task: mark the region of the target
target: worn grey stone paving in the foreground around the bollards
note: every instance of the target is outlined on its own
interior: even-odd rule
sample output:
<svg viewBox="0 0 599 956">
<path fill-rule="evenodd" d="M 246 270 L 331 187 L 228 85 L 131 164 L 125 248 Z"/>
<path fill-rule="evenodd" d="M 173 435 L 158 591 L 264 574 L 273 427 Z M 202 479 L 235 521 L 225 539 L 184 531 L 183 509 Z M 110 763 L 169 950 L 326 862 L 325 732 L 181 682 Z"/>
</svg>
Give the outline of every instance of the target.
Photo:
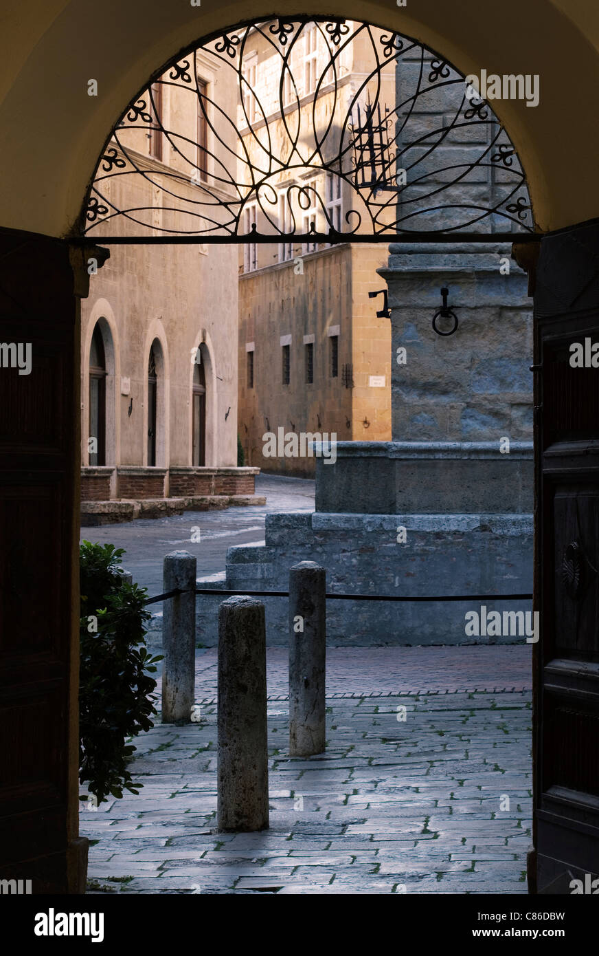
<svg viewBox="0 0 599 956">
<path fill-rule="evenodd" d="M 200 655 L 200 723 L 140 734 L 139 795 L 82 805 L 89 891 L 524 894 L 529 648 L 328 653 L 327 750 L 308 759 L 288 755 L 284 656 L 269 653 L 270 829 L 257 834 L 215 831 L 214 662 Z"/>
</svg>

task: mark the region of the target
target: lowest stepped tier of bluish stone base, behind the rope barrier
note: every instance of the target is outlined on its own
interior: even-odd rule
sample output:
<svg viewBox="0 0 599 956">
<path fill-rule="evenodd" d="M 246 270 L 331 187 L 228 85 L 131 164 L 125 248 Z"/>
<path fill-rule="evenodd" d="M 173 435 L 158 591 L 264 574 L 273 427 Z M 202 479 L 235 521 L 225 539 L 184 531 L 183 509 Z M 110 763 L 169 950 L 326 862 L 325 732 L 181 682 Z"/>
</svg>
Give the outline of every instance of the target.
<svg viewBox="0 0 599 956">
<path fill-rule="evenodd" d="M 396 529 L 407 532 L 405 544 Z M 327 570 L 327 592 L 404 597 L 529 594 L 532 591 L 531 514 L 350 514 L 267 515 L 265 544 L 227 552 L 226 573 L 199 580 L 199 587 L 287 591 L 289 568 L 313 560 Z M 218 607 L 224 598 L 197 597 L 197 640 L 213 646 Z M 289 641 L 288 601 L 263 598 L 267 643 Z M 327 600 L 327 641 L 331 645 L 426 645 L 520 643 L 524 639 L 473 639 L 465 614 L 529 611 L 529 600 L 368 601 Z"/>
</svg>

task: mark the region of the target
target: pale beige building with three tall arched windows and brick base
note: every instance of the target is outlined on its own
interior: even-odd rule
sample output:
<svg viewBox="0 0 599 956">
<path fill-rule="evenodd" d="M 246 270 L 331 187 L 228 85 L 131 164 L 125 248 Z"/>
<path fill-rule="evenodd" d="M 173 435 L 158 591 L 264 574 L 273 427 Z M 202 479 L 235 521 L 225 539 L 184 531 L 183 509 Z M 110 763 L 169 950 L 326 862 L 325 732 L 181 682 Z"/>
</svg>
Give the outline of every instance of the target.
<svg viewBox="0 0 599 956">
<path fill-rule="evenodd" d="M 215 57 L 197 54 L 194 63 L 197 90 L 175 85 L 172 71 L 157 77 L 106 146 L 99 202 L 127 216 L 115 228 L 109 212 L 98 240 L 179 231 L 198 193 L 230 195 L 218 178 L 227 142 L 211 128 L 212 99 L 232 112 L 237 89 L 223 81 Z M 120 169 L 122 176 L 109 175 Z M 257 500 L 257 469 L 237 467 L 237 251 L 115 246 L 99 271 L 89 261 L 81 308 L 83 522 Z"/>
</svg>

